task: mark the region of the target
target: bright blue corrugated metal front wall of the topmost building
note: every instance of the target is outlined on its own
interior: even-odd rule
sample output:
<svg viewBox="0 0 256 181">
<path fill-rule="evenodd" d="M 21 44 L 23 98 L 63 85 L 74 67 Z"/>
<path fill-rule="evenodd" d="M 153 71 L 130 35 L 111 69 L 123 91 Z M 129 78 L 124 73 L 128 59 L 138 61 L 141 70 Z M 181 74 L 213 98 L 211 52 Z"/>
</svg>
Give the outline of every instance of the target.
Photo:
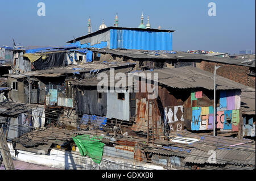
<svg viewBox="0 0 256 181">
<path fill-rule="evenodd" d="M 172 50 L 172 33 L 110 30 L 110 48 Z"/>
</svg>

